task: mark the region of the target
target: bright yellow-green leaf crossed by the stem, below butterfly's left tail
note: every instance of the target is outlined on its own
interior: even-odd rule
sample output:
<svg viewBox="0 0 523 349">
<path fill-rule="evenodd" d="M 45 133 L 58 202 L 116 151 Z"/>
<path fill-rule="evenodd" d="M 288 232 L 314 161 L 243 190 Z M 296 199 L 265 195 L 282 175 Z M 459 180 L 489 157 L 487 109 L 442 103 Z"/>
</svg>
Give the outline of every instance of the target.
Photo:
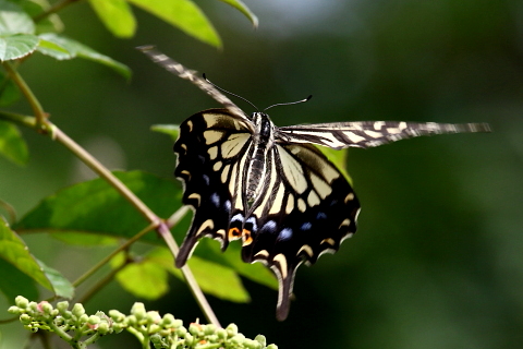
<svg viewBox="0 0 523 349">
<path fill-rule="evenodd" d="M 172 254 L 167 249 L 156 249 L 147 256 L 148 261 L 162 265 L 180 279 L 182 272 L 174 267 Z M 238 274 L 230 267 L 193 256 L 187 262 L 202 290 L 231 302 L 245 303 L 251 300 Z"/>
</svg>

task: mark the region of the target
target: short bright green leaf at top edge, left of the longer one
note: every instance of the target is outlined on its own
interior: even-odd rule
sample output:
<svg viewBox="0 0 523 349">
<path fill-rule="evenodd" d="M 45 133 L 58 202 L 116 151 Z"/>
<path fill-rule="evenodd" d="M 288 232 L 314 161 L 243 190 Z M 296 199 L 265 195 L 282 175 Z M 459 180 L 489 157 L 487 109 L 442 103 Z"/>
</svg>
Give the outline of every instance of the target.
<svg viewBox="0 0 523 349">
<path fill-rule="evenodd" d="M 129 38 L 136 32 L 136 20 L 125 0 L 89 0 L 89 3 L 114 36 Z"/>
</svg>

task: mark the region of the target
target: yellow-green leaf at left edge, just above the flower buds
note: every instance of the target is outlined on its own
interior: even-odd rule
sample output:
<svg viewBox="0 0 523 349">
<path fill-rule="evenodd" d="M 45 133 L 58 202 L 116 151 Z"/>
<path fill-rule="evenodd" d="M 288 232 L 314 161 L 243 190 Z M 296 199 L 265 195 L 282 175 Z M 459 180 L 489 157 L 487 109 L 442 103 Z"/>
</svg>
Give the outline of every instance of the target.
<svg viewBox="0 0 523 349">
<path fill-rule="evenodd" d="M 47 279 L 36 258 L 29 253 L 24 241 L 11 230 L 3 217 L 0 217 L 0 258 L 11 263 L 38 284 L 52 290 L 51 282 Z"/>
</svg>

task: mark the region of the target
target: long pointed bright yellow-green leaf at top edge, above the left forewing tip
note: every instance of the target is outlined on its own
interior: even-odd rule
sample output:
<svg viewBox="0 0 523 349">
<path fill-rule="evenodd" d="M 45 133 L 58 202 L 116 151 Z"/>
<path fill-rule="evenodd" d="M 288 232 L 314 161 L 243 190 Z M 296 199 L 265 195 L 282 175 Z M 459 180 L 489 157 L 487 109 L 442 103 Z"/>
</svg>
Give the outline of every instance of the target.
<svg viewBox="0 0 523 349">
<path fill-rule="evenodd" d="M 191 0 L 127 0 L 186 34 L 215 47 L 221 39 L 202 10 Z"/>
</svg>

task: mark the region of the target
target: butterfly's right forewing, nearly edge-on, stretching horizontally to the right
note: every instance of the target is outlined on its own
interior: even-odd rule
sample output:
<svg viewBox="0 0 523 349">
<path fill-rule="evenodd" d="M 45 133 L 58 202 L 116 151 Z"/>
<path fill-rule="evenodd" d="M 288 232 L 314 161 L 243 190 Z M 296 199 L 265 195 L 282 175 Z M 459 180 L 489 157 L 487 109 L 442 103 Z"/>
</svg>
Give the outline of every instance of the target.
<svg viewBox="0 0 523 349">
<path fill-rule="evenodd" d="M 314 143 L 335 149 L 367 148 L 422 135 L 490 132 L 488 123 L 435 123 L 362 121 L 315 123 L 279 128 L 282 143 Z"/>
</svg>

